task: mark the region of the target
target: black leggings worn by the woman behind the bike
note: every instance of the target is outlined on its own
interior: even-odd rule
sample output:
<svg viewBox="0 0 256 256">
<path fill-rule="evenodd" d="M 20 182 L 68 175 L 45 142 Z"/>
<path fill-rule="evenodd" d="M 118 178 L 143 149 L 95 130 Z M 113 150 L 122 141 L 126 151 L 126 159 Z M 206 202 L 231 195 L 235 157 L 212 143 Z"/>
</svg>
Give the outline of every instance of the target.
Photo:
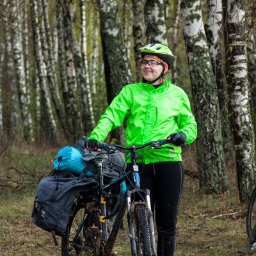
<svg viewBox="0 0 256 256">
<path fill-rule="evenodd" d="M 182 163 L 145 164 L 140 179 L 141 188 L 150 190 L 151 208 L 156 212 L 157 256 L 173 256 L 176 244 L 177 214 L 184 181 Z"/>
</svg>

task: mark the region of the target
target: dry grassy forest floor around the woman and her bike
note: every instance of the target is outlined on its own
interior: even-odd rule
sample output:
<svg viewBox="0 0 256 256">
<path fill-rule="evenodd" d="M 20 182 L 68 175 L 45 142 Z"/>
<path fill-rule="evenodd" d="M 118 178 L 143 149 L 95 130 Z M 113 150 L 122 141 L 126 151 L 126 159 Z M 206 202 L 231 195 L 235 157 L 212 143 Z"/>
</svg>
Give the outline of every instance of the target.
<svg viewBox="0 0 256 256">
<path fill-rule="evenodd" d="M 27 151 L 13 154 L 10 150 L 0 159 L 0 256 L 60 256 L 60 246 L 54 246 L 51 234 L 31 221 L 36 184 L 51 170 L 57 150 Z M 195 148 L 185 152 L 185 169 L 196 170 L 194 152 Z M 203 195 L 198 179 L 185 175 L 175 256 L 238 256 L 237 251 L 248 246 L 247 205 L 239 202 L 234 168 L 229 168 L 228 175 L 230 189 L 221 196 Z M 126 221 L 115 251 L 131 255 Z"/>
</svg>

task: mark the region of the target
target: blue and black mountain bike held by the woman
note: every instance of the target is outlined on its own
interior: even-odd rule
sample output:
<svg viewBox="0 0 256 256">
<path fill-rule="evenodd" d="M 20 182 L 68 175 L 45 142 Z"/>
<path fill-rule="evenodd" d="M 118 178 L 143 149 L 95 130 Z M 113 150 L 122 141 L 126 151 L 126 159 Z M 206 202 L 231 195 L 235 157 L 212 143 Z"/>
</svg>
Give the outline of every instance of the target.
<svg viewBox="0 0 256 256">
<path fill-rule="evenodd" d="M 163 147 L 165 144 L 169 144 L 169 146 Z M 124 175 L 120 178 L 104 185 L 102 161 L 108 157 L 108 154 L 83 156 L 84 160 L 95 161 L 97 164 L 99 185 L 89 192 L 80 193 L 74 202 L 74 215 L 69 220 L 67 235 L 61 238 L 61 255 L 115 255 L 113 246 L 118 230 L 122 225 L 126 208 L 132 255 L 156 255 L 150 191 L 140 188 L 137 159 L 141 151 L 149 148 L 173 150 L 170 146 L 170 140 L 151 141 L 141 146 L 132 145 L 131 147 L 103 143 L 99 148 L 105 148 L 108 154 L 112 154 L 116 150 L 125 151 L 129 154 L 131 159 L 129 166 L 132 168 L 125 170 Z M 118 188 L 124 182 L 127 184 L 127 190 L 123 198 L 115 195 L 118 202 L 117 207 L 111 214 L 107 214 L 108 201 L 113 198 L 111 190 Z M 109 219 L 114 216 L 115 220 L 111 225 Z"/>
</svg>

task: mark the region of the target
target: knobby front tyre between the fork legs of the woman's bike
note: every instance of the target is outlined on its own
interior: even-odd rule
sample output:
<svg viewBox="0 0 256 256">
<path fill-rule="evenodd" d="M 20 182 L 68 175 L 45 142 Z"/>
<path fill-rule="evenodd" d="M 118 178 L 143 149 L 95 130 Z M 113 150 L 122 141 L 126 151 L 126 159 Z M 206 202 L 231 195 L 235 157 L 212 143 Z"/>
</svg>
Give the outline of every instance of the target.
<svg viewBox="0 0 256 256">
<path fill-rule="evenodd" d="M 136 205 L 133 222 L 136 236 L 137 255 L 151 256 L 152 248 L 150 242 L 150 232 L 148 228 L 147 208 L 145 205 Z"/>
</svg>

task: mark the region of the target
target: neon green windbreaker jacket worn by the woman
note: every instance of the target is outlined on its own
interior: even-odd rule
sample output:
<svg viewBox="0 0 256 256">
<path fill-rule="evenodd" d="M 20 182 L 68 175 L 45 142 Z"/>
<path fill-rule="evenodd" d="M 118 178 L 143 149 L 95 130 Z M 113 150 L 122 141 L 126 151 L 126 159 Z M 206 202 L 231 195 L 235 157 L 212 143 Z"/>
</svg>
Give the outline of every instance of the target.
<svg viewBox="0 0 256 256">
<path fill-rule="evenodd" d="M 196 138 L 196 122 L 188 96 L 181 88 L 172 84 L 170 79 L 166 79 L 166 83 L 157 89 L 145 83 L 124 86 L 101 116 L 88 140 L 98 140 L 102 143 L 109 131 L 119 127 L 125 118 L 126 146 L 163 140 L 176 132 L 183 132 L 188 144 Z M 146 164 L 181 161 L 181 148 L 173 148 L 174 150 L 145 150 L 140 154 Z"/>
</svg>

